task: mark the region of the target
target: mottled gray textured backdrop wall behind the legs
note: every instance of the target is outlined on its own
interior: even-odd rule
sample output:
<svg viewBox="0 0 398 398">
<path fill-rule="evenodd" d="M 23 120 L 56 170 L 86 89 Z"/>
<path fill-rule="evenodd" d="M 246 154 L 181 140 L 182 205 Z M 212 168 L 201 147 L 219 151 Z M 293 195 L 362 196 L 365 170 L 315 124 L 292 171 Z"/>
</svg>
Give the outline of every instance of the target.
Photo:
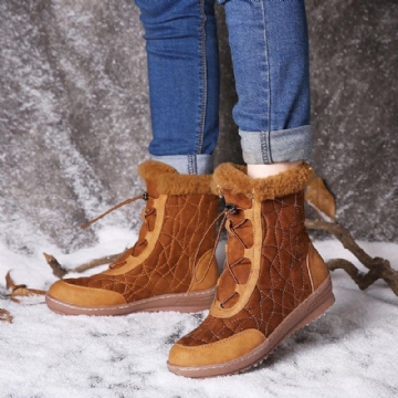
<svg viewBox="0 0 398 398">
<path fill-rule="evenodd" d="M 307 1 L 315 167 L 338 219 L 398 238 L 398 2 Z M 217 163 L 241 161 L 233 73 L 218 9 L 222 102 Z M 0 237 L 30 252 L 93 242 L 78 224 L 142 190 L 150 139 L 144 41 L 127 0 L 0 2 Z M 104 222 L 135 228 L 140 205 Z M 27 238 L 29 235 L 29 238 Z"/>
</svg>

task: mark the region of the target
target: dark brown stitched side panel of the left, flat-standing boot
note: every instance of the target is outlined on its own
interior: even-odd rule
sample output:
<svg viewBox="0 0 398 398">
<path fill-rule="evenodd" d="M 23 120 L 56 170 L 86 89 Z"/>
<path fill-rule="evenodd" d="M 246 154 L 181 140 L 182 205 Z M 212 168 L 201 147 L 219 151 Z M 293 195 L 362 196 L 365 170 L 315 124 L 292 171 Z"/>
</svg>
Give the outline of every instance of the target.
<svg viewBox="0 0 398 398">
<path fill-rule="evenodd" d="M 67 282 L 115 291 L 127 302 L 187 292 L 192 279 L 192 259 L 216 218 L 218 203 L 218 198 L 212 195 L 169 196 L 159 239 L 146 261 L 125 274 L 97 274 Z M 213 244 L 211 230 L 200 244 L 198 259 Z"/>
</svg>

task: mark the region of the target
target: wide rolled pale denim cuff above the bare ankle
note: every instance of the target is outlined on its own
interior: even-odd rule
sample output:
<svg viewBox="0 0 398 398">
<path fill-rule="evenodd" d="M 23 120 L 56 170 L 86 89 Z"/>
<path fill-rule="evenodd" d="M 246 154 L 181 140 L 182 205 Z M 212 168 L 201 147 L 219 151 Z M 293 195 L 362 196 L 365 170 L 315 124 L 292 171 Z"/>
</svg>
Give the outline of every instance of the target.
<svg viewBox="0 0 398 398">
<path fill-rule="evenodd" d="M 279 161 L 312 161 L 312 127 L 300 126 L 275 132 L 239 130 L 243 159 L 249 165 Z"/>
</svg>

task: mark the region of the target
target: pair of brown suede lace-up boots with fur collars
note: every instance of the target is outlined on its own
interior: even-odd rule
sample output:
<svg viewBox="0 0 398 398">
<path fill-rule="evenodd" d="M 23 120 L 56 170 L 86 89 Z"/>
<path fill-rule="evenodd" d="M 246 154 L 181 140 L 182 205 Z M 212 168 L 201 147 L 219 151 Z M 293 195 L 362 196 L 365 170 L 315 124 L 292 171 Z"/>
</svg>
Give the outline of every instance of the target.
<svg viewBox="0 0 398 398">
<path fill-rule="evenodd" d="M 334 303 L 328 270 L 304 227 L 303 190 L 313 177 L 308 165 L 252 179 L 232 164 L 219 166 L 213 176 L 190 176 L 149 160 L 138 174 L 147 192 L 137 243 L 101 274 L 53 284 L 46 303 L 54 312 L 210 308 L 172 346 L 168 368 L 211 377 L 259 364 Z M 218 195 L 227 203 L 219 216 Z M 217 219 L 228 231 L 220 277 Z"/>
</svg>

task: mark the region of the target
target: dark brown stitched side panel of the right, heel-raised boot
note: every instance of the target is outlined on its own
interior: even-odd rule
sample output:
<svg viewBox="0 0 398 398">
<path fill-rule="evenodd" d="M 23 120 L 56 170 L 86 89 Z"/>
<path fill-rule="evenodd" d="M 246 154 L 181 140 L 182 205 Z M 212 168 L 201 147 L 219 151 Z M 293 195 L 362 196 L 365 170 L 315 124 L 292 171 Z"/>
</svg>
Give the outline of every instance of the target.
<svg viewBox="0 0 398 398">
<path fill-rule="evenodd" d="M 268 337 L 311 294 L 305 263 L 310 239 L 304 229 L 303 192 L 264 201 L 261 217 L 265 233 L 260 276 L 249 302 L 229 318 L 209 315 L 180 344 L 213 343 L 248 328 Z"/>
</svg>

